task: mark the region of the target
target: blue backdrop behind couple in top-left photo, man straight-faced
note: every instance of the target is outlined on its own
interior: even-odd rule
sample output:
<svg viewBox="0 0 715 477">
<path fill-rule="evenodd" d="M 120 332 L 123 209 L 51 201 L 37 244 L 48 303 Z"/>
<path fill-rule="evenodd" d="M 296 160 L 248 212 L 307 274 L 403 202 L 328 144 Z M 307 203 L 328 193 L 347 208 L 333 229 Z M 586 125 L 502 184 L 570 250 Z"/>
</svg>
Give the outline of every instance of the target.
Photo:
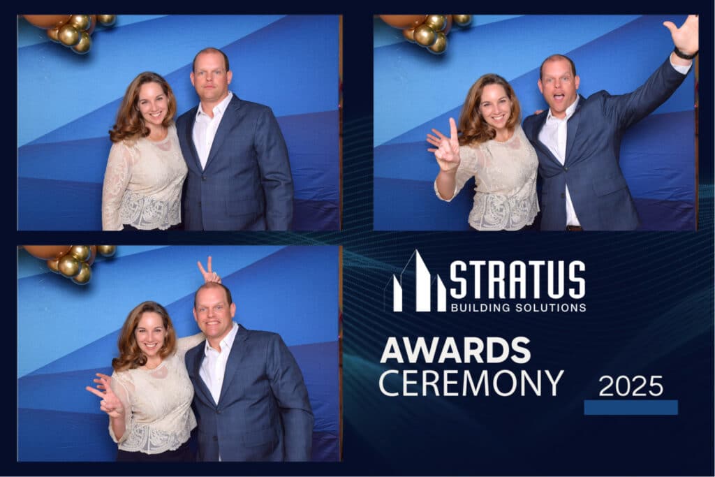
<svg viewBox="0 0 715 477">
<path fill-rule="evenodd" d="M 206 46 L 229 56 L 232 91 L 278 119 L 295 185 L 293 230 L 338 230 L 338 30 L 327 15 L 118 15 L 80 56 L 19 18 L 18 230 L 102 230 L 107 132 L 127 85 L 139 72 L 161 74 L 182 114 L 198 103 L 189 72 Z"/>
</svg>

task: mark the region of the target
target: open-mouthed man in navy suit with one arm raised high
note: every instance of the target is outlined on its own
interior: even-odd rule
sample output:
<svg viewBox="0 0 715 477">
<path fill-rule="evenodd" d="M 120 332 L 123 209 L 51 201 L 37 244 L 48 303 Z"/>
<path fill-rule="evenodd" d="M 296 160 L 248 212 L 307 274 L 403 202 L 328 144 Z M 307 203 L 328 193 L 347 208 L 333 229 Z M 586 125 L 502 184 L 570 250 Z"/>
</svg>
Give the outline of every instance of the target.
<svg viewBox="0 0 715 477">
<path fill-rule="evenodd" d="M 698 16 L 680 28 L 664 22 L 675 45 L 636 91 L 588 98 L 567 56 L 541 64 L 538 89 L 548 110 L 527 117 L 523 129 L 536 149 L 541 187 L 541 230 L 634 230 L 640 220 L 618 163 L 621 137 L 671 97 L 698 53 Z M 619 59 L 618 61 L 626 61 Z"/>
</svg>

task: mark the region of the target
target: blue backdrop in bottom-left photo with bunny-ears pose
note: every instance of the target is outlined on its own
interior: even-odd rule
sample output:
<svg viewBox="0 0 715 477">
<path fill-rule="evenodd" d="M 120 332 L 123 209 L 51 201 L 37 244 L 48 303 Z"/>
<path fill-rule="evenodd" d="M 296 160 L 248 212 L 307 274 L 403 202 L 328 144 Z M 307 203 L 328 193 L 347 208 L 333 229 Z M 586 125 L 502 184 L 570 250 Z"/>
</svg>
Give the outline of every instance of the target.
<svg viewBox="0 0 715 477">
<path fill-rule="evenodd" d="M 119 330 L 144 300 L 167 308 L 179 337 L 199 332 L 192 315 L 202 283 L 196 262 L 205 266 L 208 255 L 232 291 L 235 320 L 280 333 L 290 348 L 315 414 L 313 460 L 337 461 L 338 247 L 127 245 L 114 257 L 98 257 L 84 286 L 19 250 L 19 461 L 114 461 L 107 415 L 84 386 L 94 373 L 111 374 Z"/>
</svg>

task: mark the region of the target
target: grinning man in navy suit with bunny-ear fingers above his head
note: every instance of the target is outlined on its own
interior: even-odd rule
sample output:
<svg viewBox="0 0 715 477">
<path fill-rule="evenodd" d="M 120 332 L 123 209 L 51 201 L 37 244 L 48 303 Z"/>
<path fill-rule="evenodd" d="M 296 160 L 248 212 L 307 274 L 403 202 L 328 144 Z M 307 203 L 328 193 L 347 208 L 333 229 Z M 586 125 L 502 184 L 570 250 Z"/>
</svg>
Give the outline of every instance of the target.
<svg viewBox="0 0 715 477">
<path fill-rule="evenodd" d="M 220 283 L 194 295 L 206 341 L 186 353 L 199 423 L 199 461 L 309 461 L 313 414 L 295 358 L 280 335 L 234 323 Z"/>
</svg>

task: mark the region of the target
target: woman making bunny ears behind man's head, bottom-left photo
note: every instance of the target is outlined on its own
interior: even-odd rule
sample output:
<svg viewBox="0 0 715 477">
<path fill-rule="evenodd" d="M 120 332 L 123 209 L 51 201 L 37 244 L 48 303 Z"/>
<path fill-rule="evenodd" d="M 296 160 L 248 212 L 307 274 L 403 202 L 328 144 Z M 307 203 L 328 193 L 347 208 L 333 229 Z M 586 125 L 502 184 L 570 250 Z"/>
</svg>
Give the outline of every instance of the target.
<svg viewBox="0 0 715 477">
<path fill-rule="evenodd" d="M 204 282 L 221 282 L 199 262 Z M 117 461 L 194 461 L 189 446 L 197 426 L 191 403 L 194 386 L 184 355 L 206 339 L 204 333 L 177 338 L 167 310 L 159 303 L 139 303 L 119 333 L 114 373 L 97 373 L 99 408 L 109 415 L 109 436 L 117 443 Z"/>
</svg>

